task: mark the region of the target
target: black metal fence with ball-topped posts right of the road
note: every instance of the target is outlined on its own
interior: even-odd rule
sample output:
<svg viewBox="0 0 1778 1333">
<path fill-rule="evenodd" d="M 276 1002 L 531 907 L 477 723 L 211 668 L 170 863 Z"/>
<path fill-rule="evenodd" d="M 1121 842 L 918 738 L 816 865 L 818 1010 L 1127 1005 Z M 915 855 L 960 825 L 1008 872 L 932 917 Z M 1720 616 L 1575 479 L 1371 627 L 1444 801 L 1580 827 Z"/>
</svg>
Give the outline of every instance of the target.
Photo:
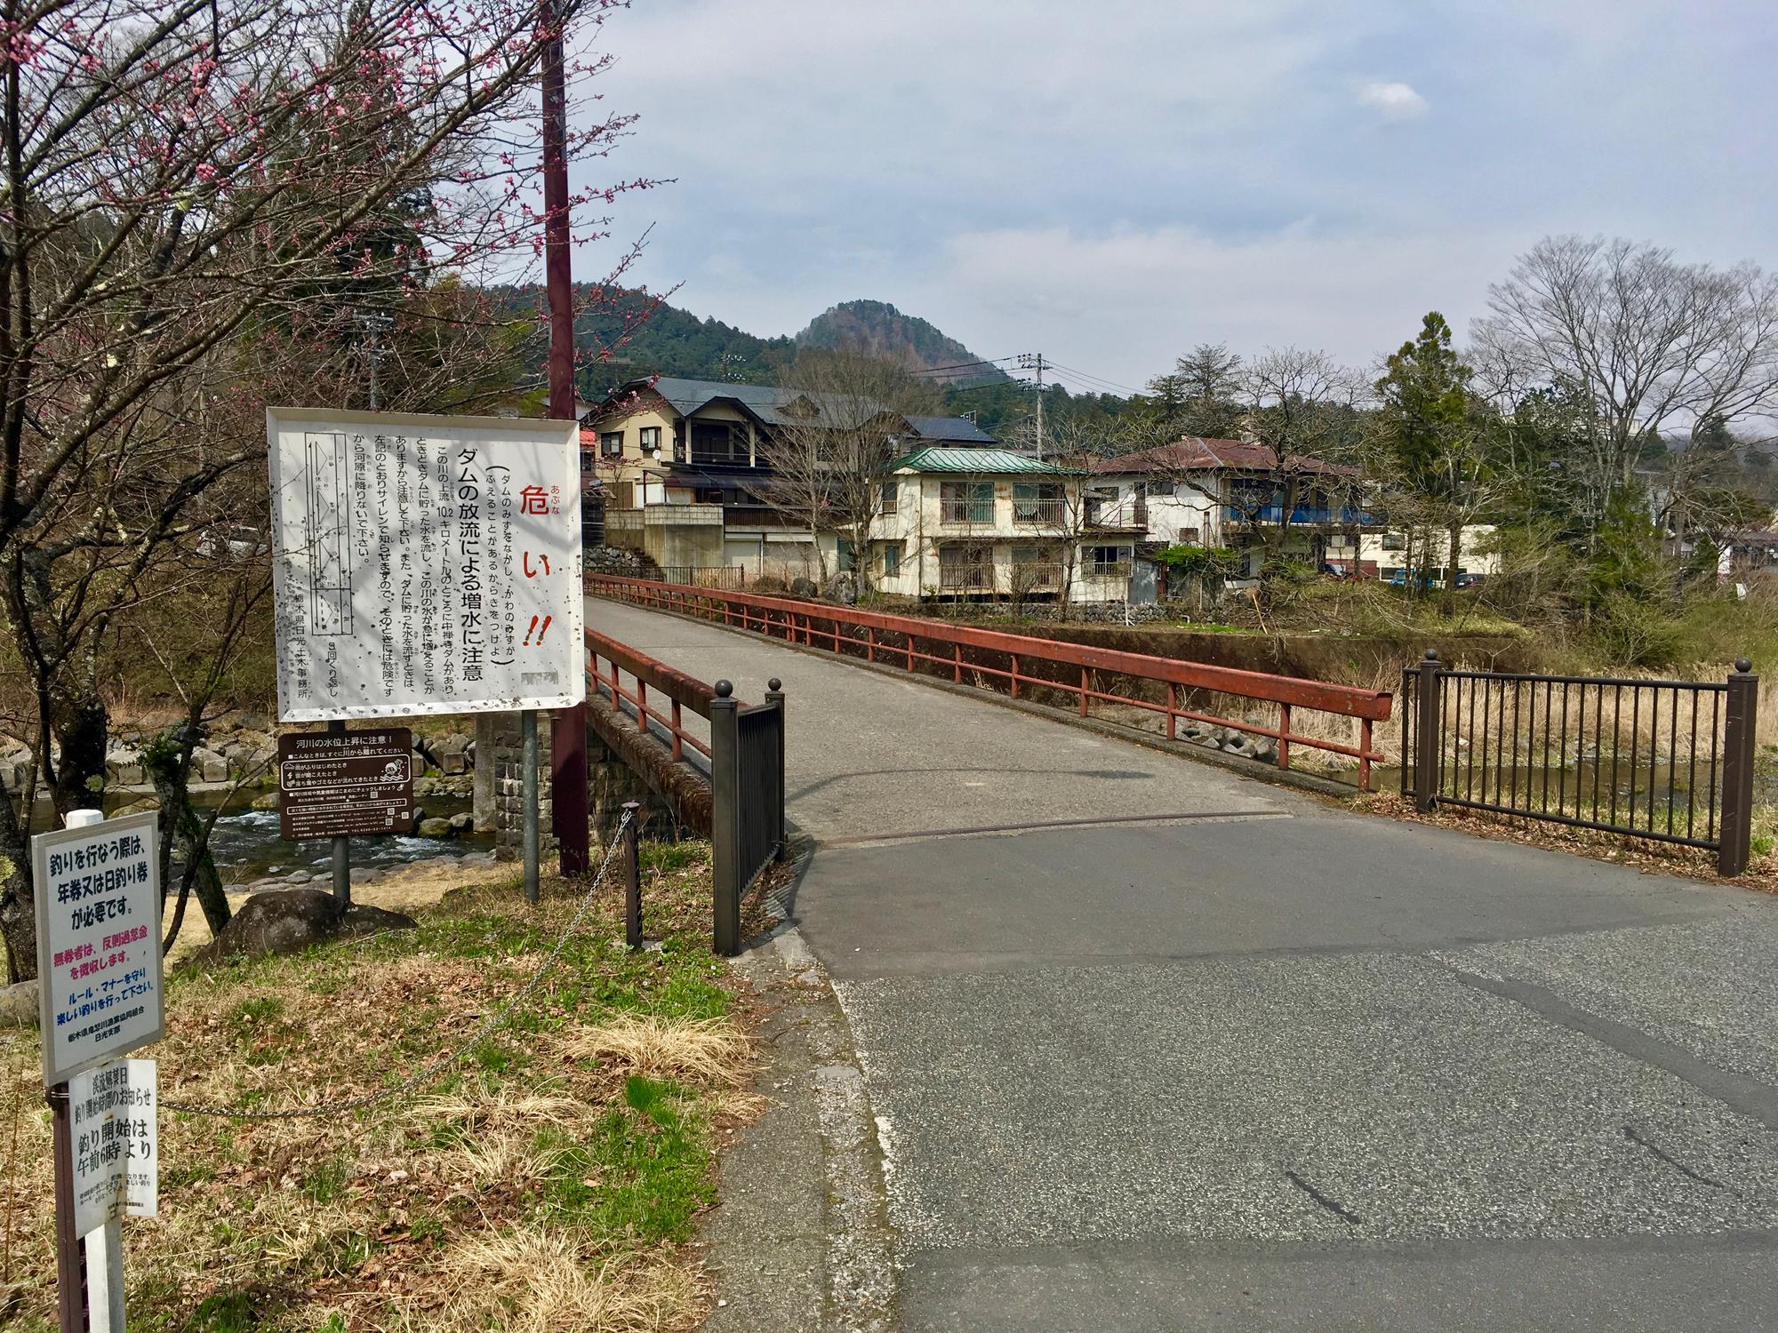
<svg viewBox="0 0 1778 1333">
<path fill-rule="evenodd" d="M 1639 681 L 1446 668 L 1401 674 L 1401 794 L 1709 848 L 1748 866 L 1758 675 Z"/>
</svg>

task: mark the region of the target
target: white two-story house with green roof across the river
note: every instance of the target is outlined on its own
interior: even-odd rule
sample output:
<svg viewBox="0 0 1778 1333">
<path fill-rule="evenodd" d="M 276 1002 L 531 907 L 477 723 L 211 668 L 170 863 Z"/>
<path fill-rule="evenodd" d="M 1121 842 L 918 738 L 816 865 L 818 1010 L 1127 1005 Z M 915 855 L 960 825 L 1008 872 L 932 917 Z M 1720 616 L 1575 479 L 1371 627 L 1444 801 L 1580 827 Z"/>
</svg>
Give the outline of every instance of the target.
<svg viewBox="0 0 1778 1333">
<path fill-rule="evenodd" d="M 1010 450 L 917 448 L 887 467 L 866 581 L 946 601 L 1124 601 L 1141 528 L 1090 480 Z"/>
</svg>

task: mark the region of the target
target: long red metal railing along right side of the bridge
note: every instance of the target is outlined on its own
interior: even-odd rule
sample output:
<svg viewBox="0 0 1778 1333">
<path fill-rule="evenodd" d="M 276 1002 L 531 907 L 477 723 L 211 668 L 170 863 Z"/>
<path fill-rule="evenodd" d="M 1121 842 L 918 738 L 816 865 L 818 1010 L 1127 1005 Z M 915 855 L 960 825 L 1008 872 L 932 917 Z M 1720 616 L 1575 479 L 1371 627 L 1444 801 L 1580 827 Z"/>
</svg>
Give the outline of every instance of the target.
<svg viewBox="0 0 1778 1333">
<path fill-rule="evenodd" d="M 900 665 L 910 672 L 949 674 L 955 682 L 962 682 L 965 675 L 971 681 L 1003 682 L 1012 698 L 1031 698 L 1033 691 L 1038 695 L 1061 691 L 1074 697 L 1081 716 L 1088 714 L 1093 702 L 1159 713 L 1166 718 L 1170 741 L 1179 738 L 1181 720 L 1266 736 L 1278 743 L 1277 762 L 1285 770 L 1291 766 L 1293 746 L 1346 755 L 1358 761 L 1360 791 L 1371 789 L 1371 764 L 1383 759 L 1373 743 L 1373 727 L 1389 718 L 1394 700 L 1387 690 L 1360 690 L 1294 675 L 1177 661 L 974 626 L 949 626 L 855 606 L 827 606 L 612 574 L 589 574 L 587 590 L 637 606 L 750 629 L 788 643 Z M 1273 706 L 1277 723 L 1218 716 L 1205 711 L 1207 704 L 1193 707 L 1198 704 L 1193 695 L 1207 693 Z M 1298 709 L 1355 718 L 1358 743 L 1346 745 L 1303 734 L 1293 725 Z"/>
</svg>

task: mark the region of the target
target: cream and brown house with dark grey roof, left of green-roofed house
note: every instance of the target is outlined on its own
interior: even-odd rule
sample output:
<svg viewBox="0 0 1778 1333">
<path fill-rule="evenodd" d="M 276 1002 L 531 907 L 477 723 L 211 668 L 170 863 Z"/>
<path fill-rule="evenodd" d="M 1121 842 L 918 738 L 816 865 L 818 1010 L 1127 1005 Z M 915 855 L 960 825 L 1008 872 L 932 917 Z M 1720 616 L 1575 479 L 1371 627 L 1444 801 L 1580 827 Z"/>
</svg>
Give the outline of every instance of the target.
<svg viewBox="0 0 1778 1333">
<path fill-rule="evenodd" d="M 813 574 L 809 531 L 773 510 L 772 450 L 789 425 L 853 419 L 853 402 L 765 384 L 676 377 L 617 386 L 581 419 L 581 462 L 605 540 L 645 551 L 663 569 L 741 567 Z M 885 451 L 914 444 L 992 448 L 955 416 L 882 412 Z M 827 539 L 832 542 L 832 537 Z M 830 567 L 830 562 L 829 562 Z"/>
</svg>

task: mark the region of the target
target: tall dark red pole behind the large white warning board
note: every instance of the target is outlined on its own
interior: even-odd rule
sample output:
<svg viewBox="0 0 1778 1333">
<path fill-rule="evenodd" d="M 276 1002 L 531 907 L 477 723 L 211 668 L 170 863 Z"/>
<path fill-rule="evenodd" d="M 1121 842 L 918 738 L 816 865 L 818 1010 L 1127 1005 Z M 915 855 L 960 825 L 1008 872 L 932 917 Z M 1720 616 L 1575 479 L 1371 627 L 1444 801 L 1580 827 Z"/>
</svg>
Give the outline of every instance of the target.
<svg viewBox="0 0 1778 1333">
<path fill-rule="evenodd" d="M 544 279 L 549 297 L 549 416 L 573 421 L 574 268 L 567 194 L 567 64 L 555 0 L 542 0 L 537 28 L 544 41 Z M 580 540 L 576 533 L 576 540 Z M 532 752 L 535 755 L 535 750 Z M 532 759 L 535 764 L 535 759 Z M 587 706 L 558 709 L 549 720 L 551 832 L 562 848 L 562 874 L 585 874 L 587 855 Z M 526 812 L 535 818 L 535 812 Z"/>
</svg>

